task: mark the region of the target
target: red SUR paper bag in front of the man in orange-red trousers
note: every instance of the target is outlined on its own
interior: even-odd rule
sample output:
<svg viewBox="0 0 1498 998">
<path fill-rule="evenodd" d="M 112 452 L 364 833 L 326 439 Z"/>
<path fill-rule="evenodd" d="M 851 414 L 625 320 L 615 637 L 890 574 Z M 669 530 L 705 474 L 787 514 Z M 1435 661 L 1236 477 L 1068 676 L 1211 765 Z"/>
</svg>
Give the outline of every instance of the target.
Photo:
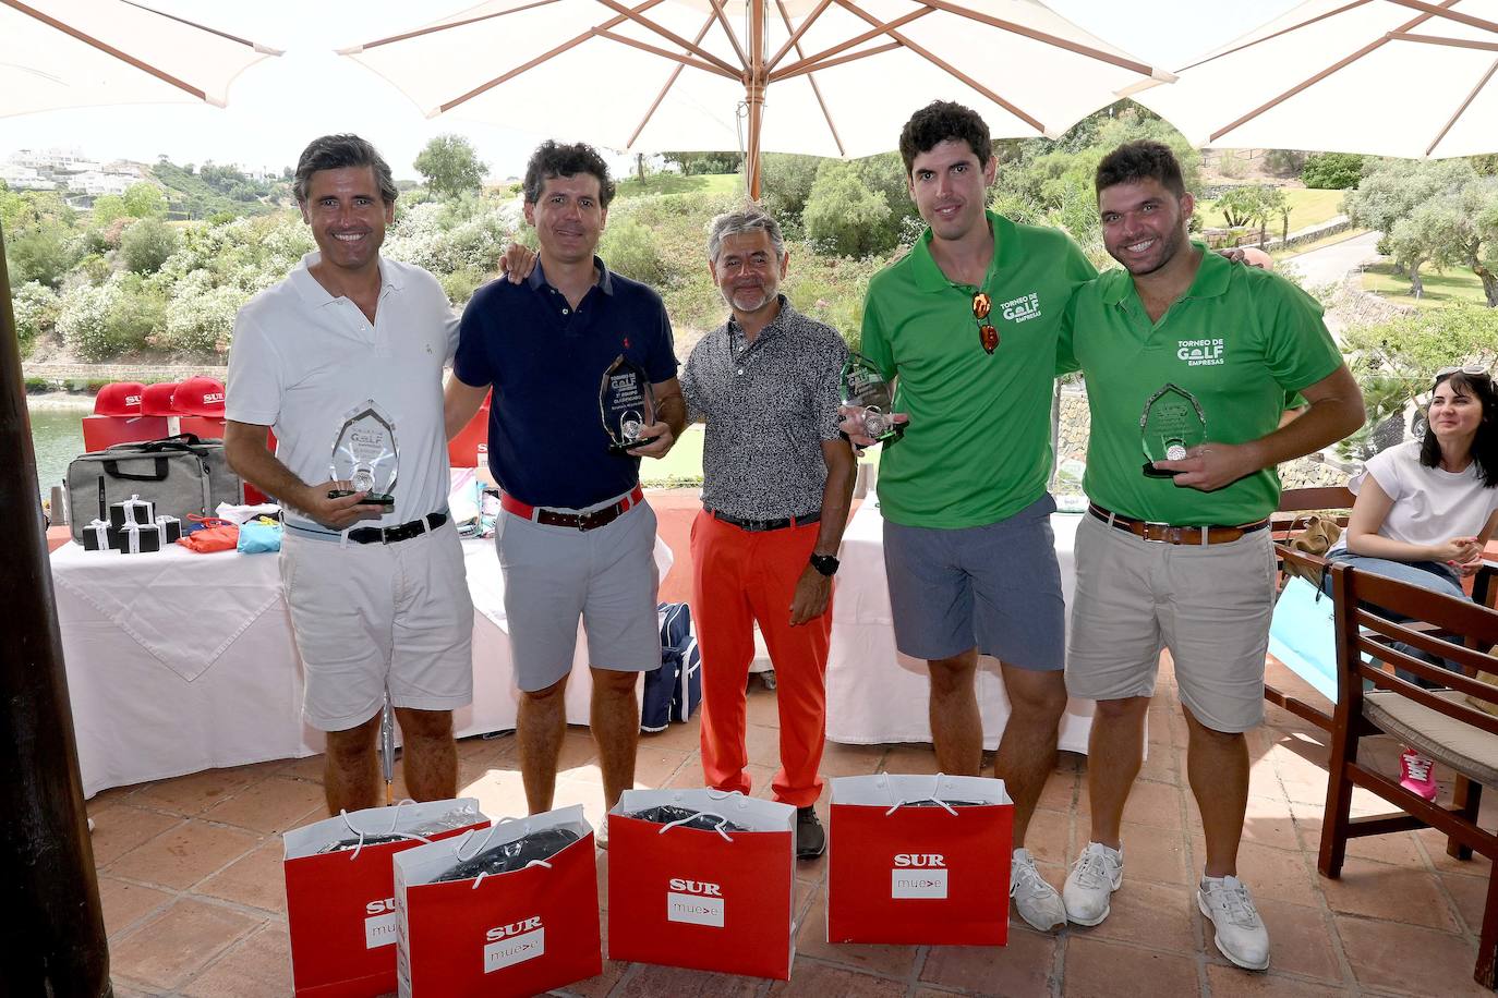
<svg viewBox="0 0 1498 998">
<path fill-rule="evenodd" d="M 658 805 L 749 830 L 626 817 Z M 795 808 L 715 790 L 625 790 L 608 814 L 608 956 L 789 980 Z"/>
</svg>

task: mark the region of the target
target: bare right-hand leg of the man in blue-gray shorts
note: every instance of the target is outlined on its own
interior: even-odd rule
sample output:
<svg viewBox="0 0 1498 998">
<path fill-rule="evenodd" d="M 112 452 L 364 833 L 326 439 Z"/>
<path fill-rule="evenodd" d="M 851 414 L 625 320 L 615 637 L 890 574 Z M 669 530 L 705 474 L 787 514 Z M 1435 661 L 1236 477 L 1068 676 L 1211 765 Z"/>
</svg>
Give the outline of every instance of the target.
<svg viewBox="0 0 1498 998">
<path fill-rule="evenodd" d="M 1040 792 L 1056 768 L 1056 726 L 1067 712 L 1067 679 L 1059 669 L 1001 667 L 1004 688 L 1010 694 L 1010 721 L 1004 726 L 993 759 L 993 775 L 1004 781 L 1014 799 L 1014 848 L 1019 848 L 1025 845 Z"/>
</svg>

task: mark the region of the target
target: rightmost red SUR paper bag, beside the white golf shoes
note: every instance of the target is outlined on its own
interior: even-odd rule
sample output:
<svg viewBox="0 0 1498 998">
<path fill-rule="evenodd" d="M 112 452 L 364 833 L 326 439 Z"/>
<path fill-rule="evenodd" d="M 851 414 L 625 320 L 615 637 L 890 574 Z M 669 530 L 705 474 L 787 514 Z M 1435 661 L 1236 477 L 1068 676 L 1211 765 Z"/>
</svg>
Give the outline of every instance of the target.
<svg viewBox="0 0 1498 998">
<path fill-rule="evenodd" d="M 1014 805 L 1002 780 L 831 784 L 828 943 L 1008 943 Z"/>
</svg>

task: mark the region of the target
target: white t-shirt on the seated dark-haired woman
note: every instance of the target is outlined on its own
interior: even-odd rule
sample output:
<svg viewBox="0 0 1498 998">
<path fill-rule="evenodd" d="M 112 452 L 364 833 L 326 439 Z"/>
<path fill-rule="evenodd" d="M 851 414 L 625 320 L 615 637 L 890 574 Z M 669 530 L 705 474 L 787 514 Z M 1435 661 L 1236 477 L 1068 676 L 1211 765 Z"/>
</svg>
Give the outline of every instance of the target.
<svg viewBox="0 0 1498 998">
<path fill-rule="evenodd" d="M 1452 537 L 1474 537 L 1498 509 L 1498 488 L 1483 488 L 1476 461 L 1458 473 L 1426 468 L 1420 464 L 1419 440 L 1375 453 L 1347 488 L 1356 495 L 1369 474 L 1395 501 L 1378 528 L 1390 540 L 1440 545 Z M 1335 549 L 1347 548 L 1345 537 L 1338 539 Z"/>
</svg>

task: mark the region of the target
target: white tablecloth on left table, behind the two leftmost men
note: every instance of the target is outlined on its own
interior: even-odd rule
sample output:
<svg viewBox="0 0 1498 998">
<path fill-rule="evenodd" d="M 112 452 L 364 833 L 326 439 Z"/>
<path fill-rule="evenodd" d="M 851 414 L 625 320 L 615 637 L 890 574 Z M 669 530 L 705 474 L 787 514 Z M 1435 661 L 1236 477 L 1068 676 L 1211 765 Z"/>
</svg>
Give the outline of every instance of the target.
<svg viewBox="0 0 1498 998">
<path fill-rule="evenodd" d="M 473 596 L 473 703 L 457 735 L 509 730 L 518 690 L 493 540 L 463 542 Z M 656 539 L 661 576 L 671 549 Z M 57 622 L 84 796 L 202 769 L 322 751 L 301 723 L 301 660 L 274 555 L 52 552 Z M 587 724 L 592 678 L 578 628 L 566 714 Z"/>
</svg>

